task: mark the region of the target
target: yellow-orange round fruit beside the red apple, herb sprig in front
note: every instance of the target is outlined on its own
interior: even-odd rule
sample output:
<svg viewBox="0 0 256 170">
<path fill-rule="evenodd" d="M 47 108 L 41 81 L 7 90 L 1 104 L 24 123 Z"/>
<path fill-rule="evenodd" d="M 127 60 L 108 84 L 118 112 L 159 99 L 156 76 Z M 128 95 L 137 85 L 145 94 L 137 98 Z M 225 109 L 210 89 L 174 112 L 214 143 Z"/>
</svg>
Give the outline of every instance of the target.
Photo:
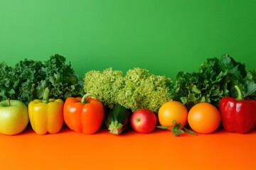
<svg viewBox="0 0 256 170">
<path fill-rule="evenodd" d="M 173 121 L 186 125 L 188 110 L 183 103 L 179 101 L 168 101 L 159 108 L 158 118 L 162 126 L 173 126 Z"/>
</svg>

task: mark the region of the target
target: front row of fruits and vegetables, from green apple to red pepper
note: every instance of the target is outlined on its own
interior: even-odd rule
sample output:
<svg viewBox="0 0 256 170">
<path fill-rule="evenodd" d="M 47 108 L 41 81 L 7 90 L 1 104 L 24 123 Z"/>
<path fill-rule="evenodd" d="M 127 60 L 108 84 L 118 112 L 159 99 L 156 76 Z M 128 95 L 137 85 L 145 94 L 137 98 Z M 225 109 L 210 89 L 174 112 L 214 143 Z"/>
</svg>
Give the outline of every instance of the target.
<svg viewBox="0 0 256 170">
<path fill-rule="evenodd" d="M 175 136 L 184 131 L 196 135 L 211 133 L 222 125 L 228 132 L 246 133 L 256 125 L 256 101 L 244 100 L 238 86 L 238 97 L 225 97 L 220 100 L 220 112 L 211 103 L 197 103 L 189 111 L 180 101 L 167 101 L 157 114 L 147 108 L 134 113 L 117 104 L 106 113 L 103 104 L 95 94 L 80 97 L 68 97 L 65 102 L 58 98 L 48 98 L 50 90 L 46 88 L 43 99 L 35 99 L 26 106 L 21 101 L 1 101 L 0 132 L 5 135 L 17 135 L 31 123 L 38 135 L 58 133 L 63 123 L 75 132 L 94 134 L 104 122 L 110 133 L 119 135 L 127 130 L 129 123 L 136 132 L 149 133 L 155 128 L 168 129 Z M 157 120 L 159 124 L 157 125 Z M 188 123 L 188 130 L 185 125 Z M 194 132 L 195 131 L 195 132 Z"/>
</svg>

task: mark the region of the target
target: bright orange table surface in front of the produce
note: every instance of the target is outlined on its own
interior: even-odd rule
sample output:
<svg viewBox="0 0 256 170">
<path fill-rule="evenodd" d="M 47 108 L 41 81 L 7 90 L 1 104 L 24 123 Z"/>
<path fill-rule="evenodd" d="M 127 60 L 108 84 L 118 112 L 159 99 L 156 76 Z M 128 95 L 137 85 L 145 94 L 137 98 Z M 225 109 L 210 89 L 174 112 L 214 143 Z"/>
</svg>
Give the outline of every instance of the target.
<svg viewBox="0 0 256 170">
<path fill-rule="evenodd" d="M 245 135 L 217 130 L 85 135 L 64 127 L 58 134 L 0 135 L 0 169 L 256 169 L 256 130 Z"/>
</svg>

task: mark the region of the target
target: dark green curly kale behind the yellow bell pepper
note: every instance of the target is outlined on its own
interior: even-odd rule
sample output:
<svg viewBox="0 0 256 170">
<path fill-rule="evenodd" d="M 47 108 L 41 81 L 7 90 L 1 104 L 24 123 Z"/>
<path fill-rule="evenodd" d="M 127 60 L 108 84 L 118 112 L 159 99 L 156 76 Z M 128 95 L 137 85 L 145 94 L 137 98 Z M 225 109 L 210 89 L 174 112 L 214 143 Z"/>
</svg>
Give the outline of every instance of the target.
<svg viewBox="0 0 256 170">
<path fill-rule="evenodd" d="M 83 81 L 75 74 L 71 64 L 65 64 L 65 57 L 50 56 L 46 62 L 22 60 L 14 67 L 0 63 L 0 100 L 15 98 L 28 104 L 35 98 L 42 98 L 43 91 L 51 89 L 51 98 L 68 98 L 83 94 Z"/>
</svg>

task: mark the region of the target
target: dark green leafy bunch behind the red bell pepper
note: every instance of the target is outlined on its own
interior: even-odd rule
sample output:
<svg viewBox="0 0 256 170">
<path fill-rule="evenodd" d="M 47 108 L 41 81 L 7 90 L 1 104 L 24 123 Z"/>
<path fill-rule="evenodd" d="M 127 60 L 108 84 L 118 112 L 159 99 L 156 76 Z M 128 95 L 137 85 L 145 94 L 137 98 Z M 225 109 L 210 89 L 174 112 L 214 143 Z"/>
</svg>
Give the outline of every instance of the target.
<svg viewBox="0 0 256 170">
<path fill-rule="evenodd" d="M 255 72 L 248 74 L 245 64 L 236 62 L 229 55 L 210 58 L 201 64 L 198 72 L 178 72 L 171 98 L 181 101 L 188 109 L 201 102 L 218 107 L 223 96 L 236 96 L 235 84 L 245 96 L 255 95 Z"/>
</svg>

